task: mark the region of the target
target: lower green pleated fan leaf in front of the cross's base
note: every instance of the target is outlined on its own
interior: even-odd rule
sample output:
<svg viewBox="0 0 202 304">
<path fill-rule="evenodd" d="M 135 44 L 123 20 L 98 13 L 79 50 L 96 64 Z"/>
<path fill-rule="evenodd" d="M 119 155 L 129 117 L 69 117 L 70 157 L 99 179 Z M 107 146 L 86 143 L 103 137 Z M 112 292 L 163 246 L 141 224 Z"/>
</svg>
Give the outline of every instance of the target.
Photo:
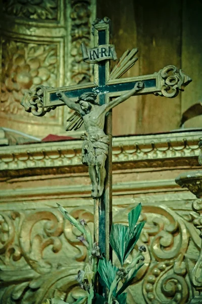
<svg viewBox="0 0 202 304">
<path fill-rule="evenodd" d="M 97 270 L 105 285 L 110 290 L 119 269 L 114 266 L 111 261 L 107 261 L 106 258 L 103 258 L 99 260 Z"/>
</svg>

